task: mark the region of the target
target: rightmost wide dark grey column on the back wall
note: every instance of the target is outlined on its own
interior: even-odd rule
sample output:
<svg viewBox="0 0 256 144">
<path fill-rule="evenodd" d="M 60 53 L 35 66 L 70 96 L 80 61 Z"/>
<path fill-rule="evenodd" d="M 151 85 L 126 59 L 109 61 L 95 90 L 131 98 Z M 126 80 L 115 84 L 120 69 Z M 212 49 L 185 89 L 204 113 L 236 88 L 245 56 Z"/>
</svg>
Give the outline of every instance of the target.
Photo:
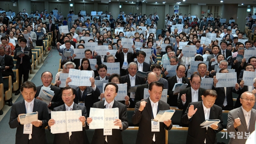
<svg viewBox="0 0 256 144">
<path fill-rule="evenodd" d="M 233 17 L 234 20 L 237 18 L 238 4 L 227 4 L 224 3 L 222 6 L 221 18 L 226 18 L 227 23 L 229 22 L 230 17 Z"/>
</svg>

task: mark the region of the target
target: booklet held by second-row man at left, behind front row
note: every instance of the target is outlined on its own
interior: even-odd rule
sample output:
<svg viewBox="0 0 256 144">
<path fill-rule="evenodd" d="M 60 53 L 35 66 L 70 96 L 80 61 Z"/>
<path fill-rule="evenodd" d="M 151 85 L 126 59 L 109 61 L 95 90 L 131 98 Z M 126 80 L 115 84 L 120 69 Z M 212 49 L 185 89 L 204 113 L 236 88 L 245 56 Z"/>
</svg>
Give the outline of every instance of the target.
<svg viewBox="0 0 256 144">
<path fill-rule="evenodd" d="M 44 102 L 46 102 L 47 105 L 50 104 L 50 102 L 52 101 L 52 98 L 54 96 L 54 91 L 51 90 L 51 88 L 46 88 L 46 87 L 42 87 L 38 98 L 41 98 Z"/>
</svg>

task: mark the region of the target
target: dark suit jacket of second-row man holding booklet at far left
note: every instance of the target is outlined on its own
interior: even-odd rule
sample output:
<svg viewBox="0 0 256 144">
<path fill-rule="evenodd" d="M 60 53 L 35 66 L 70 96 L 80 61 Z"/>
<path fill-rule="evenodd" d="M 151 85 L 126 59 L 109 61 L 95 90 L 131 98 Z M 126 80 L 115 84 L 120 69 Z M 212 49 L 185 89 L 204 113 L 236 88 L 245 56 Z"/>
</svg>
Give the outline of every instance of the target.
<svg viewBox="0 0 256 144">
<path fill-rule="evenodd" d="M 37 91 L 35 93 L 35 98 L 38 97 L 42 86 L 43 85 L 36 87 Z M 64 104 L 64 102 L 61 98 L 61 88 L 59 88 L 57 86 L 53 86 L 53 85 L 51 85 L 50 88 L 52 91 L 54 91 L 54 96 L 52 98 L 51 106 L 49 107 L 49 109 L 53 110 L 53 108 Z"/>
</svg>

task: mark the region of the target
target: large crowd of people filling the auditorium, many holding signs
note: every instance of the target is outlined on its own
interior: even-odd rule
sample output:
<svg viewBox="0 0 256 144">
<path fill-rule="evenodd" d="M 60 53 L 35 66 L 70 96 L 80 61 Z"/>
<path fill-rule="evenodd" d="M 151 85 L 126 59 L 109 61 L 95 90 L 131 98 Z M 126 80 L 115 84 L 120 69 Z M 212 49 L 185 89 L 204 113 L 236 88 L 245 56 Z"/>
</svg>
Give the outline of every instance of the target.
<svg viewBox="0 0 256 144">
<path fill-rule="evenodd" d="M 33 15 L 33 17 L 29 17 L 29 15 Z M 19 134 L 19 136 L 16 134 L 16 143 L 34 144 L 40 141 L 39 143 L 45 144 L 47 139 L 44 127 L 48 126 L 48 129 L 51 130 L 50 127 L 55 124 L 54 119 L 51 119 L 51 111 L 81 109 L 82 116 L 79 117 L 79 120 L 83 125 L 83 131 L 85 131 L 89 129 L 90 123 L 93 121 L 89 117 L 92 107 L 119 108 L 119 118 L 115 120 L 115 125 L 119 126 L 119 130 L 115 129 L 112 131 L 112 135 L 107 136 L 103 135 L 103 129 L 95 130 L 92 144 L 122 144 L 121 132 L 128 128 L 127 108 L 135 108 L 132 122 L 139 124 L 137 144 L 164 143 L 164 131 L 172 129 L 172 121 L 158 122 L 159 130 L 153 131 L 150 129 L 151 119 L 155 118 L 159 110 L 167 110 L 169 107 L 178 107 L 183 110 L 180 121 L 181 126 L 189 127 L 186 139 L 188 144 L 216 143 L 216 133 L 223 130 L 222 110 L 230 111 L 227 124 L 229 133 L 251 133 L 255 130 L 253 121 L 256 120 L 254 114 L 256 112 L 256 106 L 254 106 L 256 78 L 251 84 L 253 86 L 245 86 L 243 73 L 244 71 L 255 71 L 256 57 L 252 56 L 248 60 L 242 58 L 239 61 L 237 56 L 243 56 L 244 51 L 255 49 L 256 40 L 244 41 L 246 37 L 237 23 L 221 23 L 221 17 L 214 18 L 212 14 L 208 14 L 207 17 L 201 15 L 201 18 L 198 18 L 197 15 L 192 17 L 191 14 L 188 16 L 186 14 L 172 16 L 166 14 L 166 17 L 161 17 L 155 12 L 148 14 L 147 17 L 146 14 L 142 15 L 141 13 L 125 14 L 120 12 L 119 16 L 114 19 L 111 12 L 107 11 L 100 15 L 96 14 L 96 16 L 82 15 L 79 12 L 76 20 L 72 19 L 73 15 L 75 15 L 73 11 L 64 17 L 61 12 L 51 11 L 48 14 L 47 10 L 42 11 L 41 14 L 38 11 L 27 14 L 26 9 L 23 9 L 23 12 L 19 12 L 16 17 L 8 17 L 6 12 L 0 16 L 0 24 L 2 24 L 0 26 L 0 35 L 2 35 L 0 74 L 14 77 L 13 62 L 11 62 L 13 60 L 7 60 L 10 55 L 14 55 L 14 59 L 17 59 L 16 68 L 19 69 L 19 88 L 15 95 L 21 92 L 24 98 L 15 104 L 12 104 L 12 99 L 8 101 L 9 106 L 12 106 L 9 125 L 11 128 L 17 128 L 17 134 Z M 249 16 L 251 17 L 251 15 Z M 84 17 L 90 18 L 85 20 Z M 251 19 L 250 17 L 249 19 Z M 230 18 L 230 20 L 232 19 Z M 166 30 L 157 35 L 159 20 L 165 22 Z M 183 25 L 182 29 L 177 28 L 179 24 Z M 66 25 L 70 32 L 60 33 L 59 27 Z M 155 31 L 152 32 L 152 29 Z M 31 49 L 35 46 L 44 46 L 43 39 L 48 32 L 52 32 L 52 46 L 57 46 L 61 56 L 62 70 L 55 75 L 54 81 L 52 81 L 54 75 L 51 72 L 43 72 L 41 74 L 42 85 L 35 86 L 32 82 L 27 81 L 31 69 Z M 130 35 L 129 32 L 134 32 L 134 35 Z M 215 33 L 216 40 L 211 40 L 209 44 L 202 44 L 201 39 L 206 37 L 207 33 Z M 29 36 L 27 37 L 26 34 Z M 39 37 L 41 38 L 39 39 Z M 129 48 L 124 47 L 122 45 L 123 38 L 133 39 L 133 45 Z M 239 40 L 243 42 L 239 42 Z M 135 43 L 138 42 L 143 43 L 141 47 L 135 47 Z M 183 46 L 180 46 L 180 42 L 187 42 L 187 45 L 195 46 L 195 57 L 183 56 Z M 107 45 L 108 49 L 115 49 L 116 53 L 107 52 L 105 55 L 99 55 L 94 49 L 85 49 L 85 45 L 88 46 L 89 43 L 96 43 L 96 46 Z M 163 45 L 165 46 L 163 47 L 162 44 L 167 44 L 167 46 Z M 84 49 L 84 58 L 76 59 L 74 49 Z M 151 49 L 151 53 L 144 52 L 144 49 Z M 29 51 L 29 55 L 17 55 L 17 51 Z M 70 56 L 66 56 L 65 52 L 70 52 Z M 158 57 L 161 57 L 160 63 Z M 96 70 L 92 69 L 90 59 L 96 59 Z M 169 60 L 168 65 L 177 66 L 176 75 L 168 76 L 169 72 L 163 63 L 165 60 Z M 202 61 L 198 64 L 197 72 L 191 72 L 191 61 Z M 203 61 L 207 61 L 209 65 L 207 66 Z M 109 68 L 104 63 L 117 62 L 120 68 L 119 74 L 109 73 Z M 218 72 L 215 66 L 220 69 Z M 218 83 L 216 73 L 229 73 L 228 66 L 235 69 L 236 86 L 216 87 Z M 69 82 L 72 81 L 72 78 L 67 78 L 64 88 L 61 88 L 60 85 L 63 82 L 60 81 L 60 75 L 69 73 L 70 69 L 93 71 L 90 78 L 91 86 L 70 86 Z M 137 71 L 144 72 L 145 76 L 137 75 Z M 203 78 L 213 78 L 212 89 L 201 88 Z M 95 80 L 108 80 L 108 84 L 104 87 L 104 93 L 101 93 L 95 85 Z M 116 84 L 125 83 L 127 91 L 131 86 L 139 86 L 137 86 L 136 92 L 128 93 L 123 101 L 115 101 L 114 98 L 118 95 Z M 176 83 L 187 84 L 187 86 L 180 92 L 174 93 L 173 87 Z M 51 88 L 55 93 L 48 106 L 38 97 L 43 86 Z M 150 95 L 147 99 L 144 99 L 145 88 L 148 89 Z M 163 89 L 168 89 L 167 102 L 160 101 Z M 232 93 L 239 95 L 235 105 L 233 105 Z M 80 105 L 81 103 L 83 106 Z M 32 122 L 33 133 L 23 134 L 23 126 L 20 126 L 18 115 L 34 112 L 35 109 L 38 109 L 38 121 Z M 206 119 L 219 119 L 220 123 L 201 128 L 200 124 Z M 72 135 L 66 132 L 56 134 L 54 141 L 55 143 L 84 144 L 88 140 L 84 132 L 72 132 Z M 242 144 L 245 141 L 246 139 L 230 138 L 230 144 Z"/>
</svg>

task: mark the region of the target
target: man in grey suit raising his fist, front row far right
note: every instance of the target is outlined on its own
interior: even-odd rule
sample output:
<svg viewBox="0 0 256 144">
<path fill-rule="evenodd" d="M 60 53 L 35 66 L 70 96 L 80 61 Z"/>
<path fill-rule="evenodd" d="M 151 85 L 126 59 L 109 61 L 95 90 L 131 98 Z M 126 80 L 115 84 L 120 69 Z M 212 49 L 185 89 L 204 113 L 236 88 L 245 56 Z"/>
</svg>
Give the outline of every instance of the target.
<svg viewBox="0 0 256 144">
<path fill-rule="evenodd" d="M 250 135 L 255 130 L 256 110 L 252 109 L 255 95 L 252 92 L 244 92 L 241 95 L 240 102 L 242 104 L 241 107 L 228 112 L 227 132 L 230 135 L 229 144 L 244 144 L 247 138 L 241 135 Z"/>
</svg>

